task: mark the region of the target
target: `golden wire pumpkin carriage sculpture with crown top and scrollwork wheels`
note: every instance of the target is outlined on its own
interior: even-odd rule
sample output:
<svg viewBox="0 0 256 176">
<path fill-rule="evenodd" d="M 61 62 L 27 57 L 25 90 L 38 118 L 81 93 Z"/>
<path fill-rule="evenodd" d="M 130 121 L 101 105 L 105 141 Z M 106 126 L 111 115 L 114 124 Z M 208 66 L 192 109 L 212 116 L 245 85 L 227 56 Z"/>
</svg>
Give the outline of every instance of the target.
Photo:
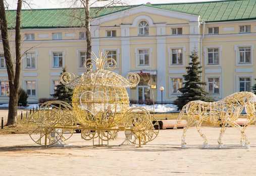
<svg viewBox="0 0 256 176">
<path fill-rule="evenodd" d="M 74 130 L 81 130 L 84 140 L 103 141 L 117 138 L 118 131 L 125 131 L 126 139 L 138 146 L 155 139 L 159 123 L 143 108 L 129 109 L 126 87 L 134 87 L 139 75 L 129 73 L 126 78 L 108 69 L 114 69 L 117 62 L 99 53 L 95 60 L 88 58 L 84 67 L 90 71 L 75 77 L 63 73 L 61 82 L 73 87 L 72 106 L 62 101 L 45 102 L 32 114 L 28 122 L 30 137 L 37 144 L 48 146 L 69 139 Z M 96 70 L 93 68 L 95 63 Z M 153 122 L 153 123 L 152 123 Z"/>
</svg>

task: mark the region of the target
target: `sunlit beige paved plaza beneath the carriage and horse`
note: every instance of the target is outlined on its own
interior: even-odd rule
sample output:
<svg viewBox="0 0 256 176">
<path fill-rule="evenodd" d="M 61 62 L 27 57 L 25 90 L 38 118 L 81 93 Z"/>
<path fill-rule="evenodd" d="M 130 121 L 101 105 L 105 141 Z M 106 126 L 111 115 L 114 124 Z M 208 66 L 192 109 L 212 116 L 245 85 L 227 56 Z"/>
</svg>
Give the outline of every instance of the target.
<svg viewBox="0 0 256 176">
<path fill-rule="evenodd" d="M 180 148 L 182 129 L 161 130 L 142 148 L 118 146 L 124 132 L 108 147 L 92 146 L 80 134 L 74 134 L 67 141 L 71 145 L 64 148 L 43 148 L 27 134 L 0 135 L 0 175 L 255 175 L 255 126 L 246 131 L 250 148 L 239 146 L 236 129 L 227 129 L 222 149 L 217 145 L 220 128 L 202 130 L 208 149 L 202 148 L 194 128 L 188 130 L 187 149 Z"/>
</svg>

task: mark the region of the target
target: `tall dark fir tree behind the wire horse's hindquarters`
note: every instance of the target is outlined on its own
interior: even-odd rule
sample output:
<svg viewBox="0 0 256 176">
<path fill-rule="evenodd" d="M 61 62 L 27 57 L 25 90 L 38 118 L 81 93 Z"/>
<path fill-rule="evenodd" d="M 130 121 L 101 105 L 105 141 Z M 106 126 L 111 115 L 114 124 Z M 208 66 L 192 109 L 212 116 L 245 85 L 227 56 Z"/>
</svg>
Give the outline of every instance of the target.
<svg viewBox="0 0 256 176">
<path fill-rule="evenodd" d="M 202 71 L 201 66 L 199 66 L 200 62 L 197 61 L 197 51 L 194 49 L 189 57 L 191 59 L 191 62 L 189 63 L 189 66 L 186 67 L 187 74 L 183 75 L 185 80 L 185 82 L 183 82 L 184 86 L 179 89 L 182 95 L 178 96 L 178 99 L 175 101 L 179 110 L 181 110 L 182 107 L 190 101 L 212 101 L 207 97 L 209 93 L 204 91 L 203 89 L 203 85 L 206 85 L 206 82 L 202 82 L 200 80 L 200 73 Z"/>
</svg>

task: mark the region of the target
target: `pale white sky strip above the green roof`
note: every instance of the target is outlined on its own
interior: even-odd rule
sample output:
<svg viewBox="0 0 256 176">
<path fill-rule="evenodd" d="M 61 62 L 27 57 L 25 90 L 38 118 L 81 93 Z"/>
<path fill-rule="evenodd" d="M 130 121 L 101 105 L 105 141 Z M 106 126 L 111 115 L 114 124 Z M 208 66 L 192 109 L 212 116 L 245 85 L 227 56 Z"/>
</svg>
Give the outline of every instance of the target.
<svg viewBox="0 0 256 176">
<path fill-rule="evenodd" d="M 49 8 L 68 8 L 70 5 L 68 3 L 63 3 L 65 0 L 27 0 L 32 3 L 31 7 L 33 9 L 49 9 Z M 94 0 L 95 1 L 95 0 Z M 129 5 L 146 4 L 150 2 L 151 4 L 161 4 L 161 3 L 186 3 L 186 2 L 206 2 L 211 0 L 126 0 Z M 16 9 L 17 0 L 7 0 L 9 4 L 9 9 Z M 96 6 L 100 6 L 97 4 Z M 26 8 L 27 9 L 27 8 Z"/>
</svg>

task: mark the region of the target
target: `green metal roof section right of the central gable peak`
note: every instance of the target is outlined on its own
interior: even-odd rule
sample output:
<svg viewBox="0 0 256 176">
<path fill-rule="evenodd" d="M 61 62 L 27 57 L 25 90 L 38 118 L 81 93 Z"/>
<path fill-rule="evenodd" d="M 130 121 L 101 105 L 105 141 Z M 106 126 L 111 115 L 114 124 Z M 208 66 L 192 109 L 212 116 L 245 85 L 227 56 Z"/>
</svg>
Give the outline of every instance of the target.
<svg viewBox="0 0 256 176">
<path fill-rule="evenodd" d="M 154 4 L 151 6 L 200 15 L 200 20 L 205 22 L 247 20 L 256 18 L 256 0 Z"/>
</svg>

